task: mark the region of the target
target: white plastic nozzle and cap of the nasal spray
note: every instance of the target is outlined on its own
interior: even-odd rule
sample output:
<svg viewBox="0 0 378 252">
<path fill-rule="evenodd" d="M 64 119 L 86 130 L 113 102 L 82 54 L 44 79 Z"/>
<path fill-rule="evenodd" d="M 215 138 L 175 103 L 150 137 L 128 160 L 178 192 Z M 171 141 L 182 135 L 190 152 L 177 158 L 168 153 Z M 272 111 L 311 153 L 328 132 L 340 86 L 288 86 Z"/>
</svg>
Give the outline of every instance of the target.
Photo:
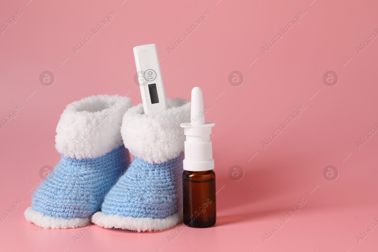
<svg viewBox="0 0 378 252">
<path fill-rule="evenodd" d="M 202 90 L 194 87 L 192 90 L 191 121 L 180 124 L 186 135 L 184 170 L 192 172 L 214 169 L 212 158 L 211 127 L 214 122 L 205 122 L 203 111 Z"/>
</svg>

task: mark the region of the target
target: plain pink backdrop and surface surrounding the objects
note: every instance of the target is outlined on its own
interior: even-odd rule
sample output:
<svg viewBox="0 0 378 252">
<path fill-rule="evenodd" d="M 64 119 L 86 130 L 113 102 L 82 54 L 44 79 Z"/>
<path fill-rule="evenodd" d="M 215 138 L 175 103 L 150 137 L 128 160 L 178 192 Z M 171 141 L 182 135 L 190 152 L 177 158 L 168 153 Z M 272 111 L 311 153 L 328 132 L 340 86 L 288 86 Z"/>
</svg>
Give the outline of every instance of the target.
<svg viewBox="0 0 378 252">
<path fill-rule="evenodd" d="M 0 24 L 18 9 L 22 15 L 0 35 L 0 119 L 17 104 L 22 109 L 0 129 L 0 213 L 17 199 L 22 204 L 0 224 L 1 251 L 376 251 L 378 228 L 360 243 L 356 235 L 378 224 L 378 135 L 360 148 L 356 141 L 378 130 L 378 41 L 360 53 L 356 46 L 378 35 L 378 4 L 217 1 L 2 2 Z M 113 9 L 111 23 L 75 54 L 72 47 Z M 169 54 L 208 9 L 206 22 Z M 302 9 L 300 23 L 264 54 L 262 46 Z M 200 86 L 211 105 L 217 224 L 187 227 L 171 243 L 167 236 L 182 224 L 152 233 L 94 226 L 75 243 L 80 229 L 26 222 L 41 167 L 59 161 L 54 136 L 65 106 L 128 92 L 140 103 L 132 49 L 149 43 L 158 47 L 167 97 L 190 99 Z M 39 82 L 46 70 L 56 77 L 50 87 Z M 232 71 L 243 74 L 242 85 L 229 83 Z M 338 74 L 337 85 L 325 85 L 327 71 Z M 263 148 L 301 104 L 300 117 Z M 244 171 L 240 181 L 228 175 L 233 165 Z M 336 180 L 323 177 L 327 165 L 338 169 Z M 262 235 L 301 199 L 300 212 L 264 243 Z"/>
</svg>

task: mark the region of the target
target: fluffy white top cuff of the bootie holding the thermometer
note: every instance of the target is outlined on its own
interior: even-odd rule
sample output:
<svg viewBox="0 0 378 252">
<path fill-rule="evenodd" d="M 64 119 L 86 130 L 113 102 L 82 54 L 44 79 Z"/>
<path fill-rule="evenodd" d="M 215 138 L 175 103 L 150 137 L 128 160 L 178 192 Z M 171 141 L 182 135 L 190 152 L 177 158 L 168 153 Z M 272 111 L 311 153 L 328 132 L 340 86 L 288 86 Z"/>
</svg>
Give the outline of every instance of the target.
<svg viewBox="0 0 378 252">
<path fill-rule="evenodd" d="M 124 145 L 138 158 L 162 163 L 177 158 L 184 150 L 182 122 L 190 121 L 191 104 L 187 100 L 168 100 L 168 109 L 159 114 L 144 114 L 143 104 L 126 111 L 121 134 Z"/>
</svg>

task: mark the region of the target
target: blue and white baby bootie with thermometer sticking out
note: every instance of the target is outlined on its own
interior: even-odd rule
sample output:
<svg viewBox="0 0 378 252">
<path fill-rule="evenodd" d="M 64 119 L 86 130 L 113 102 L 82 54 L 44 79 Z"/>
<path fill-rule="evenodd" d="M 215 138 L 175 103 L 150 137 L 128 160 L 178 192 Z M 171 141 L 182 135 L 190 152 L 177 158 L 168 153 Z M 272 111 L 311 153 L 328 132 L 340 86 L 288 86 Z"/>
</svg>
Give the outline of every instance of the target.
<svg viewBox="0 0 378 252">
<path fill-rule="evenodd" d="M 163 230 L 182 219 L 184 132 L 190 103 L 168 100 L 169 109 L 144 114 L 143 104 L 130 108 L 121 126 L 122 139 L 135 158 L 105 196 L 92 222 L 106 228 Z"/>
</svg>

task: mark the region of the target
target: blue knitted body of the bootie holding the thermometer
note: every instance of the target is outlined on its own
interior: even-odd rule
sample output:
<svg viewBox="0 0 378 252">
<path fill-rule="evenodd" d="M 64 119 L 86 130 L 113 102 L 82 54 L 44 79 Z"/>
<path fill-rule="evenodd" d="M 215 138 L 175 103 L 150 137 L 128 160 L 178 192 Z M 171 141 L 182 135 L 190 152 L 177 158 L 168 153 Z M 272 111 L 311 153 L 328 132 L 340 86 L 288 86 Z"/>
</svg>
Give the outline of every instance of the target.
<svg viewBox="0 0 378 252">
<path fill-rule="evenodd" d="M 184 152 L 161 164 L 135 157 L 129 169 L 105 196 L 101 211 L 133 218 L 166 218 L 182 206 Z"/>
</svg>

